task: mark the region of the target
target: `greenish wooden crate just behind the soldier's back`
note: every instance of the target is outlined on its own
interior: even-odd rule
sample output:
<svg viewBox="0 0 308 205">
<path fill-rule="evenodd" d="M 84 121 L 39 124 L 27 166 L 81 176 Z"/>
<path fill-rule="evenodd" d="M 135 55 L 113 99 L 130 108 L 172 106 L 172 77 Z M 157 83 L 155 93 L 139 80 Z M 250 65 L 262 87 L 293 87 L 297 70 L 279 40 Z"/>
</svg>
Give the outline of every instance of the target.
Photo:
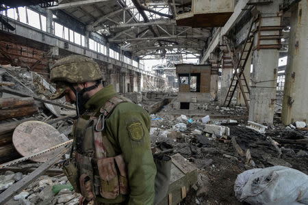
<svg viewBox="0 0 308 205">
<path fill-rule="evenodd" d="M 171 176 L 168 194 L 159 205 L 178 204 L 186 197 L 192 184 L 197 182 L 197 168 L 181 154 L 171 156 Z"/>
</svg>

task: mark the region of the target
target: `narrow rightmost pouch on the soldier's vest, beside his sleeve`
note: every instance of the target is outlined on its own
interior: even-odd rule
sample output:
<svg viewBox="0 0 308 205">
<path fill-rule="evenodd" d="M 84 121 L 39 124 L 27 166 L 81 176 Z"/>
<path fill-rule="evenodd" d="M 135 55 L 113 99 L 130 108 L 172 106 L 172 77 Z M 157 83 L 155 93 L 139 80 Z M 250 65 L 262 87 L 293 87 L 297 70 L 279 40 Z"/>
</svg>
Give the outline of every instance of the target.
<svg viewBox="0 0 308 205">
<path fill-rule="evenodd" d="M 118 156 L 114 156 L 114 161 L 116 161 L 116 165 L 118 166 L 118 185 L 120 187 L 120 193 L 125 195 L 129 193 L 128 190 L 128 180 L 127 180 L 127 169 L 123 159 L 123 155 L 120 154 Z"/>
</svg>

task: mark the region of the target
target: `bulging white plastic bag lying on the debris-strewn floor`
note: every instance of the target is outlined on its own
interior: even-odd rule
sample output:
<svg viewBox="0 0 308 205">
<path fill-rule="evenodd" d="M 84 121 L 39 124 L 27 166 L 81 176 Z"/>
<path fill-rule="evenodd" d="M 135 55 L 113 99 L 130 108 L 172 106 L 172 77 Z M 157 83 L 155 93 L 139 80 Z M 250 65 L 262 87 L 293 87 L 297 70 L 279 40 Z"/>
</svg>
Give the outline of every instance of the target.
<svg viewBox="0 0 308 205">
<path fill-rule="evenodd" d="M 252 205 L 308 204 L 308 176 L 283 166 L 251 169 L 238 175 L 234 191 L 238 200 Z"/>
</svg>

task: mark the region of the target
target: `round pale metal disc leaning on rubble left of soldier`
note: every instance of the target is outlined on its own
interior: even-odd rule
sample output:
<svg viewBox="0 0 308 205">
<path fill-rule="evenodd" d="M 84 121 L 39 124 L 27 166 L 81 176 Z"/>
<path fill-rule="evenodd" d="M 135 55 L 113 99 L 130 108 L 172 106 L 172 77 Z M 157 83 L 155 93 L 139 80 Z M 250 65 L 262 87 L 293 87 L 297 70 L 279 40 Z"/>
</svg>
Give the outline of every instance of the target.
<svg viewBox="0 0 308 205">
<path fill-rule="evenodd" d="M 13 133 L 12 141 L 15 149 L 22 156 L 40 152 L 57 144 L 66 141 L 53 126 L 40 121 L 27 121 L 18 125 Z M 46 162 L 52 159 L 55 154 L 60 153 L 64 148 L 57 148 L 31 161 Z"/>
</svg>

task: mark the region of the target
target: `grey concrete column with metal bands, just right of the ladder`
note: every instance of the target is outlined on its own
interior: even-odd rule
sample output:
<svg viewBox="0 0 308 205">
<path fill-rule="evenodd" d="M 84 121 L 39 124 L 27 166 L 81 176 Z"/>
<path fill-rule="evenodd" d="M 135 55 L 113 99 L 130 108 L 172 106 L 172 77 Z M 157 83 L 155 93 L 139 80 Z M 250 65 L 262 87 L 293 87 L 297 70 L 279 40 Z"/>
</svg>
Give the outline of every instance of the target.
<svg viewBox="0 0 308 205">
<path fill-rule="evenodd" d="M 261 16 L 261 27 L 280 26 L 279 3 L 273 1 L 268 5 L 257 5 Z M 279 31 L 261 31 L 260 36 L 279 35 Z M 277 44 L 277 40 L 258 40 L 259 33 L 255 33 L 254 46 Z M 272 124 L 274 118 L 274 103 L 276 101 L 276 82 L 278 72 L 278 49 L 262 49 L 257 47 L 253 51 L 253 77 L 249 104 L 249 120 L 257 123 Z"/>
</svg>

